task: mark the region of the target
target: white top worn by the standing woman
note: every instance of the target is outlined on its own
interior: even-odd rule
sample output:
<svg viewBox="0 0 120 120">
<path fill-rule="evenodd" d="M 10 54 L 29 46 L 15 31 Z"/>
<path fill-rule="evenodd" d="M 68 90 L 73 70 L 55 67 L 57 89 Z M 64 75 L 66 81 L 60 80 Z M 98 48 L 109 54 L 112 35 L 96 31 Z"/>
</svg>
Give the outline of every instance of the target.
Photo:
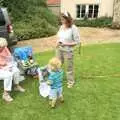
<svg viewBox="0 0 120 120">
<path fill-rule="evenodd" d="M 75 25 L 72 25 L 70 28 L 65 28 L 64 25 L 62 25 L 57 33 L 57 36 L 58 42 L 76 42 L 76 44 L 80 43 L 80 33 Z"/>
</svg>

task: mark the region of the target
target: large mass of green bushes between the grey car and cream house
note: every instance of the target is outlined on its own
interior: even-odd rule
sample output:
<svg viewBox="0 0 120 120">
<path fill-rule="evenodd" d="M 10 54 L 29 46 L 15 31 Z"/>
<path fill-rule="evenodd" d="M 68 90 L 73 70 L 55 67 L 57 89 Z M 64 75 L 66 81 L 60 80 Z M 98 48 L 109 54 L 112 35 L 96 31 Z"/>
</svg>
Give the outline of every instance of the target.
<svg viewBox="0 0 120 120">
<path fill-rule="evenodd" d="M 58 18 L 47 8 L 45 0 L 4 0 L 19 40 L 56 34 Z"/>
</svg>

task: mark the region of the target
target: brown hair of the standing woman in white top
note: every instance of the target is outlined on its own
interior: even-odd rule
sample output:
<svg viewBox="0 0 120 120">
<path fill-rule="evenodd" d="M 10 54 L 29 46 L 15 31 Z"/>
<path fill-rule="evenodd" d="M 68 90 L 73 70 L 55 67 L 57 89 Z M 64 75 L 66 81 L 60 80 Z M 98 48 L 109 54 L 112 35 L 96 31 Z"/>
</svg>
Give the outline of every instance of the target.
<svg viewBox="0 0 120 120">
<path fill-rule="evenodd" d="M 71 27 L 73 24 L 73 19 L 69 12 L 66 12 L 66 14 L 67 15 L 65 15 L 64 13 L 61 13 L 61 18 L 65 19 L 67 21 L 67 27 Z"/>
</svg>

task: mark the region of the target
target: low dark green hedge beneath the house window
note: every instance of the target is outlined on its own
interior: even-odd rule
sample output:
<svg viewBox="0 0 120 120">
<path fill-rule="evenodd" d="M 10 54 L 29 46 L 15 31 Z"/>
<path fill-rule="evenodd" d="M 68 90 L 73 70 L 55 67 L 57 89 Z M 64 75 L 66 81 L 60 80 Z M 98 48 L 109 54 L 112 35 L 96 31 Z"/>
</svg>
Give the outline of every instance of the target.
<svg viewBox="0 0 120 120">
<path fill-rule="evenodd" d="M 112 18 L 101 17 L 92 20 L 76 20 L 75 24 L 80 27 L 111 27 Z"/>
</svg>

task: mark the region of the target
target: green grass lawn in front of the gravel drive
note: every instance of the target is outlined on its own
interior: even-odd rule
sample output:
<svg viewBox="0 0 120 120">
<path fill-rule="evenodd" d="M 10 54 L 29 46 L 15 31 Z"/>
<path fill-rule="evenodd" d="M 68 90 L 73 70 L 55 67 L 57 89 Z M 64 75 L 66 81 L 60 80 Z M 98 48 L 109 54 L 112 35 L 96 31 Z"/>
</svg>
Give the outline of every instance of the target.
<svg viewBox="0 0 120 120">
<path fill-rule="evenodd" d="M 0 120 L 120 120 L 120 44 L 86 46 L 81 53 L 75 55 L 76 85 L 67 89 L 64 80 L 64 104 L 50 109 L 39 96 L 38 81 L 27 78 L 25 94 L 12 92 L 10 104 L 0 99 Z M 36 58 L 45 65 L 53 55 Z"/>
</svg>

